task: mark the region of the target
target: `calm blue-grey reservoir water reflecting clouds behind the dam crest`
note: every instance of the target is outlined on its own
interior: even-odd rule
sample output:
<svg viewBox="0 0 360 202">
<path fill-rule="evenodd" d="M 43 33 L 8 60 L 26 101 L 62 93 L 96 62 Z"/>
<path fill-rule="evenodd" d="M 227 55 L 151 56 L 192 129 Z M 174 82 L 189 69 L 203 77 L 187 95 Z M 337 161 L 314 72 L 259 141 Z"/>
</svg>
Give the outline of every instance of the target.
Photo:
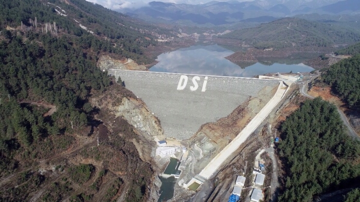
<svg viewBox="0 0 360 202">
<path fill-rule="evenodd" d="M 310 72 L 312 67 L 301 63 L 304 58 L 293 60 L 261 61 L 249 66 L 237 65 L 225 59 L 234 51 L 218 45 L 191 46 L 158 56 L 157 63 L 150 71 L 181 74 L 201 74 L 216 76 L 254 77 L 276 72 Z"/>
</svg>

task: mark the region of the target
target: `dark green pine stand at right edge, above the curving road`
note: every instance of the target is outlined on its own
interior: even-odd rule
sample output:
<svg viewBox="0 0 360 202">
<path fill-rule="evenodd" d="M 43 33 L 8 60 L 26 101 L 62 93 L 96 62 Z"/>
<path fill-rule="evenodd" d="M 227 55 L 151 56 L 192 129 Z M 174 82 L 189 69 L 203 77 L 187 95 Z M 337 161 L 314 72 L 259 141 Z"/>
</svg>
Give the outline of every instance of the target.
<svg viewBox="0 0 360 202">
<path fill-rule="evenodd" d="M 322 75 L 322 80 L 347 104 L 360 106 L 360 54 L 332 65 Z"/>
</svg>

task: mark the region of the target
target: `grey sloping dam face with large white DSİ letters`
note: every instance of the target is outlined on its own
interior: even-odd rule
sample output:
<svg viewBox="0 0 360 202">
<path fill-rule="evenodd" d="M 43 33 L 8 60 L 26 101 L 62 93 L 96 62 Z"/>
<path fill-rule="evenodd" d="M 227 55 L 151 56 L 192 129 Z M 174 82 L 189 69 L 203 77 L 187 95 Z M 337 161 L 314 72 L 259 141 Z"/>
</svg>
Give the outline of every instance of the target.
<svg viewBox="0 0 360 202">
<path fill-rule="evenodd" d="M 164 135 L 188 139 L 201 125 L 227 117 L 249 97 L 279 81 L 159 72 L 108 70 L 161 121 Z M 260 97 L 261 98 L 261 97 Z"/>
</svg>

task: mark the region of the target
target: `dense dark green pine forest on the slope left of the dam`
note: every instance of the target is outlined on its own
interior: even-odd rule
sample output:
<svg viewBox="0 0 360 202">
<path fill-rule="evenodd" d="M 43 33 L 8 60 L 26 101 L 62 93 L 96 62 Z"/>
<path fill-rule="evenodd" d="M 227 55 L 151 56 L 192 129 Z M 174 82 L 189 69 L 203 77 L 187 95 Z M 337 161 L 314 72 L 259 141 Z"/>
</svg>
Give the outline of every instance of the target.
<svg viewBox="0 0 360 202">
<path fill-rule="evenodd" d="M 21 145 L 29 146 L 43 135 L 69 131 L 71 121 L 75 128 L 87 125 L 92 111 L 87 99 L 91 91 L 105 91 L 110 85 L 106 72 L 65 35 L 27 33 L 24 41 L 10 31 L 4 34 L 7 40 L 0 42 L 0 136 L 17 134 Z M 45 101 L 57 110 L 45 120 L 40 112 L 21 106 L 21 101 Z"/>
</svg>

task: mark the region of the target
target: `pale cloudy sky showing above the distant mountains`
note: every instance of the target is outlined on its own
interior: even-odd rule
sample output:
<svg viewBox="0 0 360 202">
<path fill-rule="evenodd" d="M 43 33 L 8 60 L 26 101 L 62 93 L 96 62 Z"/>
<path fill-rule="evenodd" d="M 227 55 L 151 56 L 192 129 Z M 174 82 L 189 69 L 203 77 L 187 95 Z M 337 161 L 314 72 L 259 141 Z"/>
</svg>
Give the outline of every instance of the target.
<svg viewBox="0 0 360 202">
<path fill-rule="evenodd" d="M 138 8 L 146 6 L 148 2 L 154 0 L 87 0 L 93 3 L 100 4 L 104 7 L 107 7 L 111 10 L 119 10 L 123 8 Z M 172 2 L 172 3 L 188 3 L 188 4 L 199 4 L 207 3 L 212 0 L 158 0 L 162 2 Z M 217 1 L 229 1 L 229 0 L 217 0 Z M 251 1 L 251 0 L 238 0 L 238 1 Z"/>
</svg>

